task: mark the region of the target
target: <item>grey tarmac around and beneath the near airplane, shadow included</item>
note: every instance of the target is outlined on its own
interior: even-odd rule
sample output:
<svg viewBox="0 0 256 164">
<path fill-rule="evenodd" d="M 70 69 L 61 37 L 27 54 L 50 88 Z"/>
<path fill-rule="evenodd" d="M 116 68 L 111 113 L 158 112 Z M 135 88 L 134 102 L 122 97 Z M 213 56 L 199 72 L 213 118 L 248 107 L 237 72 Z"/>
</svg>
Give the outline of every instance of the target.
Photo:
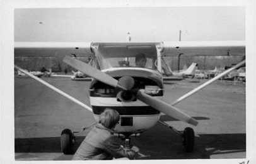
<svg viewBox="0 0 256 164">
<path fill-rule="evenodd" d="M 62 91 L 90 105 L 89 81 L 64 77 L 43 77 Z M 206 80 L 185 79 L 165 82 L 164 101 L 171 102 Z M 157 123 L 140 136 L 132 138 L 144 157 L 136 160 L 230 159 L 246 158 L 245 84 L 217 80 L 205 89 L 175 105 L 199 121 L 197 126 L 162 115 L 160 120 L 183 130 L 195 131 L 192 153 L 183 151 L 177 134 Z M 61 152 L 63 129 L 79 131 L 94 122 L 93 114 L 30 77 L 15 76 L 15 160 L 71 160 Z M 76 139 L 76 148 L 90 129 Z"/>
</svg>

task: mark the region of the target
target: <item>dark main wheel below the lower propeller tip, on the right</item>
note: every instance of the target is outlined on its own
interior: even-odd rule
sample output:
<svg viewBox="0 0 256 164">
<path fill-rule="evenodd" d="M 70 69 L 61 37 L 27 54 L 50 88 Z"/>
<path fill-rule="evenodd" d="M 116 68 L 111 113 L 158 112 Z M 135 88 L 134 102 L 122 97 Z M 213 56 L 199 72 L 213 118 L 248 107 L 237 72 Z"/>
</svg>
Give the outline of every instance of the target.
<svg viewBox="0 0 256 164">
<path fill-rule="evenodd" d="M 186 152 L 192 152 L 194 150 L 195 133 L 192 128 L 185 128 L 183 131 L 184 138 L 184 150 Z"/>
</svg>

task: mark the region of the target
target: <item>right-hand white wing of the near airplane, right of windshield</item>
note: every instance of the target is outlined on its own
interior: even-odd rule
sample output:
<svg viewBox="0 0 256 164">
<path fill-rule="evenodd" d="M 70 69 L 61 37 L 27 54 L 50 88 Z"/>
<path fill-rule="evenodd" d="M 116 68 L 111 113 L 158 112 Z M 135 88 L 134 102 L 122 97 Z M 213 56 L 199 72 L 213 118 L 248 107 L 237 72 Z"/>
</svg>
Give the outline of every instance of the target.
<svg viewBox="0 0 256 164">
<path fill-rule="evenodd" d="M 245 55 L 245 41 L 167 41 L 163 56 L 183 55 Z"/>
</svg>

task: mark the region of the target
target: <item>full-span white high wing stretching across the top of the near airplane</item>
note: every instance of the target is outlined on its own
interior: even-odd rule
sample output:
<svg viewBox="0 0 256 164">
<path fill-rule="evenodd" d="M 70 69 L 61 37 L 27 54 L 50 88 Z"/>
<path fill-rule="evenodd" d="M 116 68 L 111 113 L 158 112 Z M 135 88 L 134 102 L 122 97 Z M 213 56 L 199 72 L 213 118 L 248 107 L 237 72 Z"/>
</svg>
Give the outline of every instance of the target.
<svg viewBox="0 0 256 164">
<path fill-rule="evenodd" d="M 15 42 L 15 57 L 41 56 L 78 57 L 93 55 L 91 47 L 104 51 L 108 57 L 134 57 L 144 52 L 156 57 L 156 46 L 161 45 L 163 56 L 183 55 L 245 55 L 245 41 L 165 41 L 165 42 Z"/>
</svg>

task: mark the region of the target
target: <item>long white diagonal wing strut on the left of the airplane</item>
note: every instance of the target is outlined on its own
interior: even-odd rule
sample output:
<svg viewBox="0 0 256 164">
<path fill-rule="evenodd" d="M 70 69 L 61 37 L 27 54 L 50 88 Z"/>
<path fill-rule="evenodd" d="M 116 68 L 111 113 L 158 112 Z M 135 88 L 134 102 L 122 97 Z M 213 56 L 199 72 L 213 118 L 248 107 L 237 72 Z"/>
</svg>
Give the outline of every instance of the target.
<svg viewBox="0 0 256 164">
<path fill-rule="evenodd" d="M 67 99 L 70 99 L 71 101 L 76 102 L 76 104 L 79 104 L 80 106 L 82 106 L 82 107 L 88 109 L 88 110 L 91 111 L 91 112 L 93 111 L 93 110 L 91 109 L 91 107 L 87 106 L 87 105 L 84 104 L 83 102 L 79 101 L 78 99 L 75 99 L 74 97 L 70 96 L 69 94 L 66 94 L 66 93 L 63 92 L 62 90 L 57 89 L 57 88 L 54 87 L 53 85 L 50 85 L 49 83 L 47 83 L 47 82 L 45 82 L 44 80 L 42 80 L 42 79 L 36 77 L 35 75 L 30 74 L 30 73 L 27 72 L 26 70 L 21 69 L 21 68 L 18 67 L 17 65 L 15 65 L 15 68 L 16 68 L 17 70 L 20 70 L 20 71 L 23 72 L 24 74 L 26 74 L 26 75 L 32 77 L 33 79 L 37 80 L 38 82 L 40 82 L 40 83 L 46 85 L 46 86 L 49 87 L 50 89 L 52 89 L 52 90 L 58 92 L 58 93 L 61 94 L 62 96 L 67 97 Z"/>
</svg>

